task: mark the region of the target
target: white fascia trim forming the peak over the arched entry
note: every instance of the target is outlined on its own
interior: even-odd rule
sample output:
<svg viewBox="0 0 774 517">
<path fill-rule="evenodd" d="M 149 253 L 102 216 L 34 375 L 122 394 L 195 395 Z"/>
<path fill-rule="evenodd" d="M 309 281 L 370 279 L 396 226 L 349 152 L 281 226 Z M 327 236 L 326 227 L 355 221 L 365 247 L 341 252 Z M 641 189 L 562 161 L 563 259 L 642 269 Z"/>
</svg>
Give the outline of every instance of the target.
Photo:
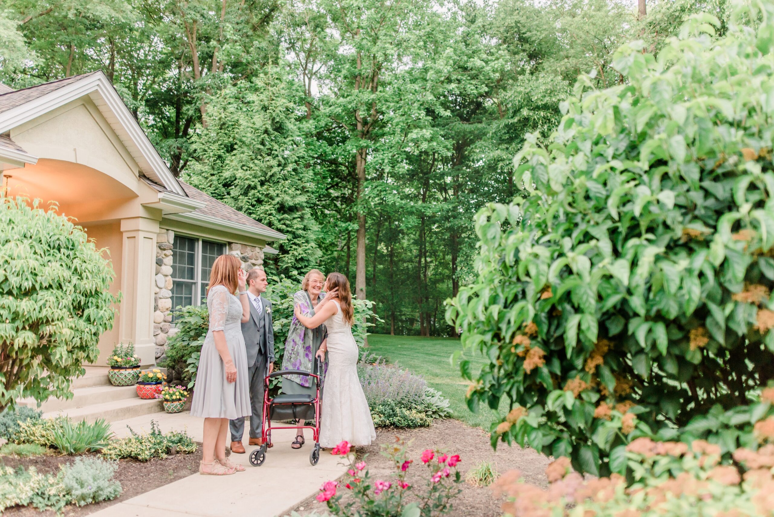
<svg viewBox="0 0 774 517">
<path fill-rule="evenodd" d="M 121 100 L 110 84 L 108 77 L 101 71 L 77 80 L 73 84 L 57 88 L 57 90 L 49 94 L 35 98 L 0 114 L 0 133 L 9 131 L 11 128 L 15 128 L 48 111 L 59 108 L 70 101 L 84 97 L 84 95 L 90 94 L 92 91 L 98 91 L 105 103 L 108 104 L 108 108 L 113 111 L 116 118 L 118 118 L 118 122 L 121 122 L 126 129 L 132 142 L 135 143 L 140 152 L 142 152 L 142 156 L 145 156 L 150 163 L 153 172 L 162 180 L 164 187 L 180 194 L 180 196 L 187 197 L 183 187 L 180 186 L 180 183 L 177 183 L 175 176 L 167 168 L 166 163 L 161 159 L 156 148 L 153 147 L 153 144 L 148 139 L 148 135 L 142 131 L 142 128 L 132 116 L 126 104 L 124 104 L 124 101 Z"/>
</svg>

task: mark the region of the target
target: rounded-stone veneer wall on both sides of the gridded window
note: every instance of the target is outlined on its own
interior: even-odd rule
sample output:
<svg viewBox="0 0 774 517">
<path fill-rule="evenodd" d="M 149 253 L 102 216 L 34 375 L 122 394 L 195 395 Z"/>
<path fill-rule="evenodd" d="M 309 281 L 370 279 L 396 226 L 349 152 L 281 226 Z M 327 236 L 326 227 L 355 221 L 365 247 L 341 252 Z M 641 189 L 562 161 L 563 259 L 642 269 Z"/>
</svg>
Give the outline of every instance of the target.
<svg viewBox="0 0 774 517">
<path fill-rule="evenodd" d="M 163 230 L 156 235 L 156 279 L 153 285 L 153 339 L 156 341 L 156 361 L 164 355 L 172 328 L 172 247 L 175 232 Z M 228 253 L 237 257 L 242 269 L 263 267 L 263 250 L 230 242 Z"/>
</svg>

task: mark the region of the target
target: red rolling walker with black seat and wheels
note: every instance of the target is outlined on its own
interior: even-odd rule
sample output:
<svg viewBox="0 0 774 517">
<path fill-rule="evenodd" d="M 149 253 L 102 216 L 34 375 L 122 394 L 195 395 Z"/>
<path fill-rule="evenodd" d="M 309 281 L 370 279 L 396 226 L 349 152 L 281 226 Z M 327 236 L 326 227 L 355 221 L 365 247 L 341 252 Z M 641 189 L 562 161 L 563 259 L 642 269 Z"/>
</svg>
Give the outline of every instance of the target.
<svg viewBox="0 0 774 517">
<path fill-rule="evenodd" d="M 317 361 L 317 371 L 322 371 L 323 365 L 319 358 Z M 269 368 L 266 368 L 268 373 Z M 311 377 L 317 387 L 317 393 L 312 395 L 305 394 L 280 394 L 273 399 L 269 398 L 269 382 L 272 378 L 282 377 L 284 375 L 303 375 Z M 250 453 L 250 464 L 253 467 L 260 467 L 266 460 L 266 452 L 269 443 L 272 443 L 272 430 L 276 429 L 311 429 L 313 431 L 314 447 L 309 454 L 310 464 L 317 465 L 320 461 L 320 390 L 322 385 L 320 375 L 313 374 L 311 371 L 303 370 L 280 370 L 268 374 L 263 379 L 263 430 L 261 433 L 262 446 Z M 272 419 L 275 420 L 314 420 L 314 426 L 272 426 Z"/>
</svg>

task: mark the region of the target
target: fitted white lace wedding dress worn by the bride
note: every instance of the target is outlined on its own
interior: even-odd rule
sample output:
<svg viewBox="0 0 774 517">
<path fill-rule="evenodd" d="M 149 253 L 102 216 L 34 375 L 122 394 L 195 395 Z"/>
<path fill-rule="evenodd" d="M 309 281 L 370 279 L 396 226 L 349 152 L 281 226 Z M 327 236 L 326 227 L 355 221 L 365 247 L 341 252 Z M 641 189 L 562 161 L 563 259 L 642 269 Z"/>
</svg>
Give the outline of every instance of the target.
<svg viewBox="0 0 774 517">
<path fill-rule="evenodd" d="M 344 321 L 336 300 L 336 313 L 325 320 L 328 330 L 328 371 L 320 409 L 320 445 L 336 447 L 347 440 L 355 447 L 376 439 L 371 410 L 358 378 L 358 344 L 352 327 Z"/>
</svg>

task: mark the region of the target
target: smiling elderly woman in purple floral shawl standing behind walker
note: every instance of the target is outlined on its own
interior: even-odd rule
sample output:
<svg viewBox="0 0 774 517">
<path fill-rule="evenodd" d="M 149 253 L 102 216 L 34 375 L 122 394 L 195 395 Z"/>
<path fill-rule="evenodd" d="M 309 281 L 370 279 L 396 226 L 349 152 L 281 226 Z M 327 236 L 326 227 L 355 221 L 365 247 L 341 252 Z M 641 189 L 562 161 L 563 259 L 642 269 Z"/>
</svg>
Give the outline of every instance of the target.
<svg viewBox="0 0 774 517">
<path fill-rule="evenodd" d="M 312 317 L 320 307 L 327 303 L 327 294 L 320 297 L 320 292 L 325 285 L 325 277 L 323 273 L 317 269 L 312 269 L 303 277 L 301 282 L 301 290 L 293 295 L 293 305 L 299 307 L 301 313 L 306 317 Z M 319 327 L 307 329 L 299 320 L 294 316 L 293 321 L 290 323 L 290 330 L 288 333 L 288 339 L 285 342 L 285 354 L 283 358 L 283 370 L 304 370 L 311 371 L 314 374 L 323 377 L 327 370 L 327 361 L 324 361 L 323 371 L 320 373 L 317 371 L 317 361 L 315 361 L 315 355 L 320 347 L 325 350 L 325 340 L 327 337 L 327 330 L 325 325 L 321 324 Z M 313 379 L 305 377 L 303 375 L 285 375 L 283 377 L 283 393 L 293 395 L 311 395 L 314 397 L 316 394 L 316 388 Z M 303 422 L 299 422 L 302 426 Z M 298 428 L 296 432 L 296 440 L 293 441 L 290 447 L 293 449 L 300 449 L 304 442 L 303 429 Z"/>
</svg>

